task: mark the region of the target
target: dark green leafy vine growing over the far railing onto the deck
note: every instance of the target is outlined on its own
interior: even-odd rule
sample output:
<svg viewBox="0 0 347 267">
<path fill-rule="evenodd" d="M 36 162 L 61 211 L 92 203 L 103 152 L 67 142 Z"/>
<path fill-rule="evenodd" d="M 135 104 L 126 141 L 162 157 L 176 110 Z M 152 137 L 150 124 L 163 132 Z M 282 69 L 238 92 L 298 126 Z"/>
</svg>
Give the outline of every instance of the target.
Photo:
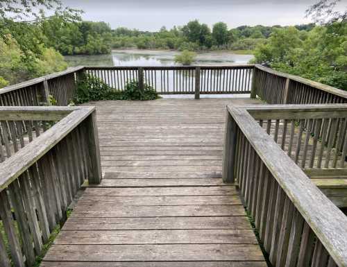
<svg viewBox="0 0 347 267">
<path fill-rule="evenodd" d="M 158 98 L 153 87 L 144 84 L 144 90 L 139 89 L 137 81 L 126 83 L 124 91 L 115 91 L 101 79 L 91 75 L 83 75 L 77 83 L 77 92 L 74 103 L 101 100 L 153 100 Z"/>
</svg>

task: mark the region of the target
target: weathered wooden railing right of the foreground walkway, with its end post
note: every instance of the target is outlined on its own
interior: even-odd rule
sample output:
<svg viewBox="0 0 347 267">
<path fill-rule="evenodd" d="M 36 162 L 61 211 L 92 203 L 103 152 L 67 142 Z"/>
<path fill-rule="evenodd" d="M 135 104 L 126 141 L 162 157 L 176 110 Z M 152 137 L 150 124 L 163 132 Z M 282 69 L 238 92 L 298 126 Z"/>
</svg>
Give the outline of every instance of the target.
<svg viewBox="0 0 347 267">
<path fill-rule="evenodd" d="M 302 163 L 295 162 L 296 156 L 292 160 L 282 150 L 280 137 L 284 138 L 286 131 L 279 130 L 283 121 L 296 120 L 300 126 L 302 119 L 308 129 L 312 119 L 316 119 L 316 128 L 319 121 L 329 119 L 329 125 L 336 129 L 336 120 L 345 125 L 347 106 L 325 105 L 321 110 L 317 106 L 287 108 L 287 105 L 277 106 L 272 112 L 271 106 L 249 107 L 249 110 L 228 107 L 223 180 L 239 185 L 273 266 L 347 266 L 347 217 L 305 175 L 297 165 Z M 275 120 L 273 136 L 270 135 L 272 119 Z M 267 123 L 267 133 L 262 121 Z M 329 140 L 335 139 L 335 134 L 332 130 Z M 342 135 L 337 135 L 336 140 L 341 138 Z M 346 144 L 346 137 L 344 140 Z M 296 144 L 298 147 L 302 146 Z"/>
</svg>

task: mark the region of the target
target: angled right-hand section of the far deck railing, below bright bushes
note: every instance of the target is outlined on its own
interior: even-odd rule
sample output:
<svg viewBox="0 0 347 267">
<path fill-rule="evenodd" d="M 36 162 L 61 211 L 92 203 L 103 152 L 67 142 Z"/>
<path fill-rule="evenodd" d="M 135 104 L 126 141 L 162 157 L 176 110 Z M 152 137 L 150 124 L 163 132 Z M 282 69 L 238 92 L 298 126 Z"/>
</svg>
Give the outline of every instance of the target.
<svg viewBox="0 0 347 267">
<path fill-rule="evenodd" d="M 346 88 L 347 89 L 347 88 Z M 269 104 L 347 103 L 347 92 L 256 64 L 251 97 Z"/>
</svg>

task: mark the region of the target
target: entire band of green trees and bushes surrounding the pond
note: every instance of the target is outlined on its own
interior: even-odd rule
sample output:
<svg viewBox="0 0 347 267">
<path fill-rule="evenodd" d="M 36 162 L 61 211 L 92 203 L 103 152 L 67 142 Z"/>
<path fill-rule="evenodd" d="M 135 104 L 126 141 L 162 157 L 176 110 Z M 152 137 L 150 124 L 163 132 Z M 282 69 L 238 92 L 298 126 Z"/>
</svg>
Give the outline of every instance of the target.
<svg viewBox="0 0 347 267">
<path fill-rule="evenodd" d="M 347 11 L 335 12 L 337 2 L 319 1 L 307 9 L 312 24 L 228 28 L 217 22 L 210 28 L 194 20 L 149 32 L 83 21 L 81 10 L 64 7 L 59 0 L 22 1 L 22 6 L 4 0 L 0 3 L 0 87 L 65 69 L 62 55 L 137 48 L 251 50 L 253 62 L 347 89 Z M 37 12 L 37 5 L 55 13 L 46 17 Z M 25 21 L 26 14 L 34 19 Z"/>
</svg>

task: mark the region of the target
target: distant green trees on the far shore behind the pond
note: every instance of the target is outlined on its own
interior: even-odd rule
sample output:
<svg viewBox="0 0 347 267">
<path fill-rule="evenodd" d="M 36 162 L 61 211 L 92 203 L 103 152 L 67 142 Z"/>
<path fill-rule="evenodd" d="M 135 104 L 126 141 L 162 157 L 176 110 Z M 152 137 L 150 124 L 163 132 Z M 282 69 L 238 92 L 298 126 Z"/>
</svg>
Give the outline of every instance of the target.
<svg viewBox="0 0 347 267">
<path fill-rule="evenodd" d="M 179 51 L 204 51 L 209 49 L 252 50 L 262 44 L 273 31 L 282 26 L 240 26 L 228 30 L 223 22 L 214 24 L 211 29 L 198 20 L 189 21 L 184 26 L 160 28 L 158 32 L 116 28 L 112 30 L 110 46 L 114 49 L 176 49 Z M 310 31 L 312 24 L 296 26 L 301 32 Z"/>
</svg>

